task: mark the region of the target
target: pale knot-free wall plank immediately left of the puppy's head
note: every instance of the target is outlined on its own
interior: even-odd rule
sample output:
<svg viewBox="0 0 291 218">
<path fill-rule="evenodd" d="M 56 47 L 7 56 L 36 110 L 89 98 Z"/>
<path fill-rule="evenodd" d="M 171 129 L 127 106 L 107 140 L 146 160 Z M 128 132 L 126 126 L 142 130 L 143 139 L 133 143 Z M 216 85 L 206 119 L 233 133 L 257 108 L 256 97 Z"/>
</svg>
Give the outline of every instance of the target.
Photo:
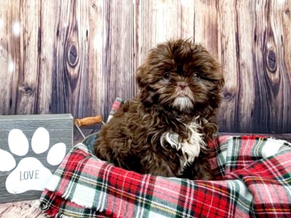
<svg viewBox="0 0 291 218">
<path fill-rule="evenodd" d="M 105 107 L 104 118 L 108 116 L 116 96 L 129 99 L 135 94 L 133 18 L 135 14 L 132 0 L 105 0 L 106 47 L 104 72 Z"/>
</svg>

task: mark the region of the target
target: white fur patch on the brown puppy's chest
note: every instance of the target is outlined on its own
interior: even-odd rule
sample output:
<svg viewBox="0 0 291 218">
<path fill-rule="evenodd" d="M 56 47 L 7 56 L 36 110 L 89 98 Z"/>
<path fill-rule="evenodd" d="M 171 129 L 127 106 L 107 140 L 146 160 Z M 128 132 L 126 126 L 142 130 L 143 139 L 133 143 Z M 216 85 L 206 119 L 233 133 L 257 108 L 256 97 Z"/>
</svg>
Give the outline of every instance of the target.
<svg viewBox="0 0 291 218">
<path fill-rule="evenodd" d="M 164 132 L 160 139 L 162 146 L 164 146 L 164 142 L 167 141 L 174 149 L 182 151 L 183 156 L 180 158 L 178 175 L 182 174 L 184 168 L 193 163 L 195 157 L 199 156 L 201 147 L 206 148 L 203 134 L 198 131 L 201 129 L 201 120 L 199 117 L 185 126 L 188 134 L 187 139 L 180 141 L 178 134 L 170 132 Z"/>
</svg>

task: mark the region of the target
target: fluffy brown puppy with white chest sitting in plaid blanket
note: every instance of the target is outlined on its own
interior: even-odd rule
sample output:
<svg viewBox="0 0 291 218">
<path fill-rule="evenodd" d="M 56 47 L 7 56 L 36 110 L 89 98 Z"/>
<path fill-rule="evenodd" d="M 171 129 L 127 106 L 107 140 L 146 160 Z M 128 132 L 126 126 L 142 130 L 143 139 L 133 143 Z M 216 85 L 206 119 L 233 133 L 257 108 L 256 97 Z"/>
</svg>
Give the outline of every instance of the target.
<svg viewBox="0 0 291 218">
<path fill-rule="evenodd" d="M 137 70 L 140 93 L 99 133 L 97 157 L 162 176 L 212 179 L 208 161 L 224 79 L 200 45 L 170 41 L 150 50 Z"/>
</svg>

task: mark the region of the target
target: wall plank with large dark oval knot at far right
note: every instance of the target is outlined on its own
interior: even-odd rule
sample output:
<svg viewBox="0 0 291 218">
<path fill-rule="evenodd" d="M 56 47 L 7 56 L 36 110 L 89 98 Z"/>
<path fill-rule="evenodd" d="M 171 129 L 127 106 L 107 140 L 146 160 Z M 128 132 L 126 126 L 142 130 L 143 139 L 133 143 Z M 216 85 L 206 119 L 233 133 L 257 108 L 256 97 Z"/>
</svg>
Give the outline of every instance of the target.
<svg viewBox="0 0 291 218">
<path fill-rule="evenodd" d="M 284 31 L 290 31 L 290 28 L 283 28 L 286 5 L 282 2 L 270 0 L 253 5 L 252 64 L 256 72 L 253 76 L 256 88 L 252 126 L 255 131 L 260 128 L 264 132 L 290 131 L 291 127 L 291 69 L 286 68 L 285 63 L 290 59 L 290 52 L 284 54 L 282 44 L 291 47 L 290 41 L 282 39 Z"/>
</svg>

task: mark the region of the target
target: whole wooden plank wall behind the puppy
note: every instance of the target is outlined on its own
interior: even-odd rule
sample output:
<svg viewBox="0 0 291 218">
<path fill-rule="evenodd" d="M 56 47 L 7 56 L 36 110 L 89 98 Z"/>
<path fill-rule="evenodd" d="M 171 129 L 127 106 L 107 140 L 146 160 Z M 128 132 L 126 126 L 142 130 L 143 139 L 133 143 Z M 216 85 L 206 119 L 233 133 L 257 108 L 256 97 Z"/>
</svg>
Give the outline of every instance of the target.
<svg viewBox="0 0 291 218">
<path fill-rule="evenodd" d="M 291 132 L 291 0 L 0 0 L 0 114 L 107 117 L 148 49 L 191 38 L 223 63 L 224 132 Z"/>
</svg>

